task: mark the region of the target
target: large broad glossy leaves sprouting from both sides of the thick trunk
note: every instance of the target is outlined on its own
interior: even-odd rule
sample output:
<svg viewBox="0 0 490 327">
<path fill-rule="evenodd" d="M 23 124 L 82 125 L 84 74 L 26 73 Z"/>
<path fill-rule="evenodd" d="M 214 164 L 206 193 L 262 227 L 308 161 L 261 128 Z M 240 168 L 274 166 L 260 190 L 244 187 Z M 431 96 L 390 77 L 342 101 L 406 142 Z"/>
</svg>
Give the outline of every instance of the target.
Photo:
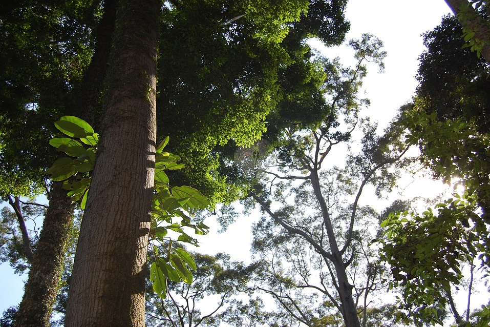
<svg viewBox="0 0 490 327">
<path fill-rule="evenodd" d="M 91 182 L 91 176 L 88 173 L 93 170 L 95 165 L 98 134 L 86 121 L 74 116 L 63 116 L 56 121 L 55 125 L 58 130 L 70 137 L 53 138 L 50 144 L 68 157 L 56 160 L 47 173 L 51 174 L 53 180 L 64 180 L 63 188 L 69 190 L 68 196 L 73 202 L 80 201 L 80 207 L 84 209 Z M 185 250 L 172 247 L 173 240 L 171 237 L 167 237 L 168 231 L 178 234 L 176 241 L 197 245 L 197 241 L 189 236 L 183 228 L 193 229 L 197 234 L 206 234 L 208 227 L 202 222 L 193 222 L 188 214 L 204 210 L 210 205 L 207 198 L 194 188 L 188 186 L 171 187 L 169 185 L 165 170 L 181 169 L 183 165 L 178 163 L 179 156 L 163 151 L 168 139 L 166 137 L 156 149 L 155 194 L 153 196 L 150 230 L 150 241 L 154 242 L 152 249 L 155 257 L 155 261 L 150 267 L 150 278 L 155 292 L 163 298 L 166 295 L 167 278 L 175 282 L 183 280 L 186 283 L 191 283 L 193 275 L 189 268 L 196 270 L 194 260 Z M 79 177 L 83 174 L 85 175 Z M 70 178 L 72 176 L 76 178 Z M 174 221 L 176 217 L 180 221 Z M 165 252 L 159 252 L 156 245 L 158 243 L 167 244 Z"/>
</svg>

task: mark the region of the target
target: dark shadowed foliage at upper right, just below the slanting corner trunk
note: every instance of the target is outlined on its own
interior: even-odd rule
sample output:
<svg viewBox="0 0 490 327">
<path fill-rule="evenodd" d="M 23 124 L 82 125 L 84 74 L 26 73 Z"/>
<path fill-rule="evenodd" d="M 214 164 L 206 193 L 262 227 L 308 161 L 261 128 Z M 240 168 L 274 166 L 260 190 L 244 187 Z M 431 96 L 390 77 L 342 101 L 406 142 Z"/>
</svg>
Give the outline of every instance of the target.
<svg viewBox="0 0 490 327">
<path fill-rule="evenodd" d="M 462 28 L 454 16 L 424 34 L 427 51 L 420 55 L 417 106 L 439 120 L 459 118 L 490 132 L 488 64 L 464 48 Z"/>
</svg>

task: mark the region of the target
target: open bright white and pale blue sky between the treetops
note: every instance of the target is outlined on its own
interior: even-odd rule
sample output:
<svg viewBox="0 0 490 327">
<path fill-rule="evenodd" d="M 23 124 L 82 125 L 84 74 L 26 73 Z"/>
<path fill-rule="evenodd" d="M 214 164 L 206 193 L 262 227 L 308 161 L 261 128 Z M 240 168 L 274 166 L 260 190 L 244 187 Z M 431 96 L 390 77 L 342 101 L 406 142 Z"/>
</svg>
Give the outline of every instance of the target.
<svg viewBox="0 0 490 327">
<path fill-rule="evenodd" d="M 371 107 L 366 113 L 380 126 L 386 126 L 415 91 L 417 58 L 424 50 L 421 34 L 436 27 L 441 17 L 449 13 L 449 7 L 443 0 L 349 1 L 346 17 L 351 22 L 351 30 L 347 39 L 371 33 L 384 42 L 384 50 L 387 51 L 385 72 L 379 74 L 377 68 L 371 67 L 364 82 L 365 96 L 371 99 Z M 329 49 L 326 53 L 333 57 L 352 57 L 352 52 L 345 48 Z M 422 190 L 427 196 L 436 192 L 430 183 Z M 208 224 L 215 231 L 219 229 L 215 223 Z M 227 252 L 233 258 L 243 258 L 247 256 L 250 241 L 250 221 L 240 219 L 226 233 L 206 235 L 200 250 L 212 254 Z M 0 314 L 20 302 L 26 279 L 26 275 L 19 277 L 13 274 L 8 263 L 0 265 Z"/>
</svg>

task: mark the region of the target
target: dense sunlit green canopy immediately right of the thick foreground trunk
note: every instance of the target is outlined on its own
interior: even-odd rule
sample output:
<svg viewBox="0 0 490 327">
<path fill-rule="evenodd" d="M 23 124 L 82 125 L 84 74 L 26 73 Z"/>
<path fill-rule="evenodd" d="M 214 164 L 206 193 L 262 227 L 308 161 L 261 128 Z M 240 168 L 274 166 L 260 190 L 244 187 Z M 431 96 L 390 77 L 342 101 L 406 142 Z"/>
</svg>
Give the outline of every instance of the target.
<svg viewBox="0 0 490 327">
<path fill-rule="evenodd" d="M 163 16 L 158 131 L 172 135 L 171 151 L 185 160 L 174 180 L 229 202 L 251 183 L 233 167 L 237 146 L 253 144 L 266 128 L 274 139 L 287 124 L 317 122 L 325 111 L 325 73 L 310 61 L 305 38 L 342 42 L 345 1 L 312 2 L 314 16 L 306 1 L 173 4 Z M 330 23 L 328 33 L 319 21 Z"/>
</svg>

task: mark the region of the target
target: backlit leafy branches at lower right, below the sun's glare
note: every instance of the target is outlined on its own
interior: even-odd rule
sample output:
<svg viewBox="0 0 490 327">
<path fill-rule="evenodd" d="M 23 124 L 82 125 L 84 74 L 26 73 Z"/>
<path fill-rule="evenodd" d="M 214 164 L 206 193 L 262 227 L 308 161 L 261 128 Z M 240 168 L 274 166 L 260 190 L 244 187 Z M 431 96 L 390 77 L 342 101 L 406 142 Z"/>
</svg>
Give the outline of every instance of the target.
<svg viewBox="0 0 490 327">
<path fill-rule="evenodd" d="M 436 205 L 436 212 L 392 212 L 381 223 L 386 235 L 381 258 L 391 266 L 391 287 L 402 290 L 399 304 L 409 313 L 404 317 L 417 325 L 442 324 L 451 287 L 463 278 L 461 263 L 472 264 L 477 256 L 487 261 L 488 230 L 475 213 L 476 197 L 454 196 Z"/>
</svg>

